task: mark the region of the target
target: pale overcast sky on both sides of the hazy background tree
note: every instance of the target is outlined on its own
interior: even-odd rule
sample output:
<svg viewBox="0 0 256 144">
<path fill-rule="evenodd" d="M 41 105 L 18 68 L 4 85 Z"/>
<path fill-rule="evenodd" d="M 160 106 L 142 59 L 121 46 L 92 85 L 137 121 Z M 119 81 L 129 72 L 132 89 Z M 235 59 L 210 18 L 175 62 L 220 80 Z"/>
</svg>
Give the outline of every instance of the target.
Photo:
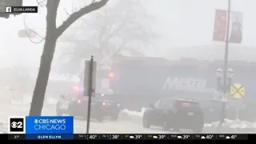
<svg viewBox="0 0 256 144">
<path fill-rule="evenodd" d="M 111 1 L 111 0 L 110 0 Z M 36 5 L 35 0 L 23 0 L 26 6 Z M 62 0 L 58 10 L 58 24 L 66 19 L 64 11 L 71 10 L 74 5 L 81 5 L 81 0 Z M 80 3 L 79 3 L 80 2 Z M 89 2 L 89 1 L 88 1 Z M 203 46 L 222 45 L 224 43 L 212 42 L 214 28 L 214 9 L 226 9 L 227 0 L 142 0 L 148 12 L 154 16 L 156 23 L 152 24 L 162 38 L 155 42 L 154 51 L 149 54 L 166 56 L 170 54 L 175 58 L 222 58 L 222 49 L 218 50 L 183 50 L 177 46 Z M 256 34 L 256 1 L 255 0 L 232 0 L 232 10 L 243 13 L 243 41 L 240 46 L 255 46 Z M 42 53 L 41 44 L 34 44 L 27 38 L 18 38 L 18 30 L 24 29 L 23 20 L 26 24 L 45 34 L 46 11 L 42 8 L 38 14 L 22 14 L 9 19 L 1 18 L 0 33 L 0 66 L 28 65 L 38 66 Z M 34 39 L 38 41 L 40 39 Z M 62 43 L 58 43 L 61 47 Z M 232 48 L 233 45 L 230 47 Z M 230 48 L 230 49 L 231 49 Z M 230 50 L 230 58 L 256 60 L 256 50 L 248 49 Z"/>
</svg>

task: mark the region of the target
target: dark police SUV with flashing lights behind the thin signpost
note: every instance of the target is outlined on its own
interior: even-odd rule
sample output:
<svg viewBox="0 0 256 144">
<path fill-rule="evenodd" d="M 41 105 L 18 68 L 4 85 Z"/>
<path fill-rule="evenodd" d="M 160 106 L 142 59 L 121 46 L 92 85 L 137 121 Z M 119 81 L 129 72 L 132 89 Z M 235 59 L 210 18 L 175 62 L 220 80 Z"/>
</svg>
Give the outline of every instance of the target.
<svg viewBox="0 0 256 144">
<path fill-rule="evenodd" d="M 87 118 L 88 97 L 60 98 L 56 106 L 57 115 L 69 114 Z M 90 118 L 102 122 L 104 117 L 110 117 L 115 121 L 118 119 L 120 104 L 111 100 L 110 96 L 97 95 L 91 101 Z"/>
</svg>

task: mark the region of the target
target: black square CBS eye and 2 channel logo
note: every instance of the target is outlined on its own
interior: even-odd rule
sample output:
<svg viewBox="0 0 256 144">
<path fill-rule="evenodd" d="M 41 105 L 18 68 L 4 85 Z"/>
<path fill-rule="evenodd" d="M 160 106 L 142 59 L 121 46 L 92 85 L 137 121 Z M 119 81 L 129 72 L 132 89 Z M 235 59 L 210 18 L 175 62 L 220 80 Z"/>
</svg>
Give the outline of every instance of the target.
<svg viewBox="0 0 256 144">
<path fill-rule="evenodd" d="M 10 118 L 10 133 L 24 132 L 24 118 Z"/>
</svg>

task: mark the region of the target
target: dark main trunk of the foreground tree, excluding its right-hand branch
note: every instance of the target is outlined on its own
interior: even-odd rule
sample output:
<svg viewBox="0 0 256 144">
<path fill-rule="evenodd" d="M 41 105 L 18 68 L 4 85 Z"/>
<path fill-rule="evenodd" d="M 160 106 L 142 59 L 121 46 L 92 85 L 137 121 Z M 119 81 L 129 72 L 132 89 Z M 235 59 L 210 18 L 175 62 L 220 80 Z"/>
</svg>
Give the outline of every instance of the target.
<svg viewBox="0 0 256 144">
<path fill-rule="evenodd" d="M 46 15 L 46 38 L 42 51 L 42 57 L 38 72 L 38 78 L 34 87 L 34 94 L 30 106 L 30 116 L 40 116 L 46 94 L 46 86 L 49 79 L 51 62 L 54 58 L 54 51 L 58 39 L 56 29 L 56 17 L 59 0 L 47 1 Z"/>
</svg>

